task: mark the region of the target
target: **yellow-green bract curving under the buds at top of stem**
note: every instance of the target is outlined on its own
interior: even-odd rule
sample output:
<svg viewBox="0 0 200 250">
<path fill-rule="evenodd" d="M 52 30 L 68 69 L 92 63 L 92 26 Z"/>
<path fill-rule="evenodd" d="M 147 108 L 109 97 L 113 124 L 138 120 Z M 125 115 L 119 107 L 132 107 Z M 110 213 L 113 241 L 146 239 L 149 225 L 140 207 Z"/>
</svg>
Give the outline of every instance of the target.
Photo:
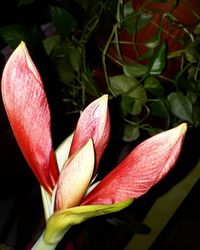
<svg viewBox="0 0 200 250">
<path fill-rule="evenodd" d="M 55 245 L 63 238 L 65 232 L 71 226 L 96 216 L 120 211 L 132 202 L 133 200 L 128 200 L 112 205 L 86 205 L 58 211 L 47 221 L 43 234 L 44 241 L 48 245 Z"/>
</svg>

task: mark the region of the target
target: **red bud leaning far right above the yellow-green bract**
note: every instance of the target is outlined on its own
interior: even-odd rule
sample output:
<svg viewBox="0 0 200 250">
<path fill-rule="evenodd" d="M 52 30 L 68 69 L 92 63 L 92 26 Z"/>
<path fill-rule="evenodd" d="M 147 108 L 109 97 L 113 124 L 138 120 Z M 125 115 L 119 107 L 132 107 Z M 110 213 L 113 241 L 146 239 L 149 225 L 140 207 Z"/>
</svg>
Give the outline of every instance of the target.
<svg viewBox="0 0 200 250">
<path fill-rule="evenodd" d="M 81 204 L 113 204 L 145 194 L 175 165 L 186 129 L 184 123 L 142 142 Z"/>
</svg>

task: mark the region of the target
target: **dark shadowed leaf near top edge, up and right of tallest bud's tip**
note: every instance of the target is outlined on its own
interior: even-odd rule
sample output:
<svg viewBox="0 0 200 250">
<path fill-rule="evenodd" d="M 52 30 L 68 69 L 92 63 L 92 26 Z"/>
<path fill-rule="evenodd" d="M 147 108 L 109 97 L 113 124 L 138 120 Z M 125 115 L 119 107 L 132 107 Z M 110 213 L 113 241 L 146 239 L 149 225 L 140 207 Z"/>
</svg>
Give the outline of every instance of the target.
<svg viewBox="0 0 200 250">
<path fill-rule="evenodd" d="M 77 27 L 76 19 L 65 9 L 55 6 L 49 9 L 57 32 L 64 38 L 68 37 Z"/>
</svg>

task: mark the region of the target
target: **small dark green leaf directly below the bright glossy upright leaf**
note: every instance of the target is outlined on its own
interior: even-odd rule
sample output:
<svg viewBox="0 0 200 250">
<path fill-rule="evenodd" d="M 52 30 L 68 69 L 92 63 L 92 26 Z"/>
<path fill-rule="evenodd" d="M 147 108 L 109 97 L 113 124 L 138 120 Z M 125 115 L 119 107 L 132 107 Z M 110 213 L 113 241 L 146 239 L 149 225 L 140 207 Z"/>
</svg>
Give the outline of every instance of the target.
<svg viewBox="0 0 200 250">
<path fill-rule="evenodd" d="M 149 76 L 145 79 L 144 88 L 155 97 L 165 95 L 165 89 L 161 85 L 160 81 L 154 76 Z"/>
</svg>

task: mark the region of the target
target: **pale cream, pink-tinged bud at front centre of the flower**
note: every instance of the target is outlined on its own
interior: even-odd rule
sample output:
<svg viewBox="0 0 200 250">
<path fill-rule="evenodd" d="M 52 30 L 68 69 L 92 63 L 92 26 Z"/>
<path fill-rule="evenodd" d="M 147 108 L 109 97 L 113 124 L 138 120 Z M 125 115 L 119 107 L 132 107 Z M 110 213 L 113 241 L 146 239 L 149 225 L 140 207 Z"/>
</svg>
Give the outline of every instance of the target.
<svg viewBox="0 0 200 250">
<path fill-rule="evenodd" d="M 57 183 L 55 211 L 78 206 L 94 171 L 92 139 L 65 163 Z"/>
</svg>

